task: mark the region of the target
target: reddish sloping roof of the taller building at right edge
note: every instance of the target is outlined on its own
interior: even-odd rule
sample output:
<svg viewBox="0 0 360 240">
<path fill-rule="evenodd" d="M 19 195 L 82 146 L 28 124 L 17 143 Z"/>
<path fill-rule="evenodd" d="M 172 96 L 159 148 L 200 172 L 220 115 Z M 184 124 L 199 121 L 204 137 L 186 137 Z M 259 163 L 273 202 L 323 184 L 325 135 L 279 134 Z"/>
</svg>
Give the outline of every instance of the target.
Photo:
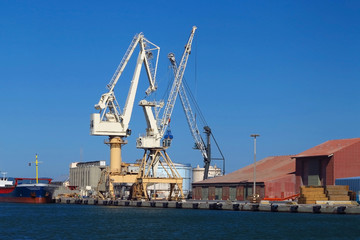
<svg viewBox="0 0 360 240">
<path fill-rule="evenodd" d="M 335 152 L 340 151 L 341 149 L 346 148 L 357 142 L 360 142 L 360 138 L 329 140 L 302 153 L 299 153 L 294 157 L 301 158 L 314 156 L 330 156 L 331 154 L 334 154 Z"/>
</svg>

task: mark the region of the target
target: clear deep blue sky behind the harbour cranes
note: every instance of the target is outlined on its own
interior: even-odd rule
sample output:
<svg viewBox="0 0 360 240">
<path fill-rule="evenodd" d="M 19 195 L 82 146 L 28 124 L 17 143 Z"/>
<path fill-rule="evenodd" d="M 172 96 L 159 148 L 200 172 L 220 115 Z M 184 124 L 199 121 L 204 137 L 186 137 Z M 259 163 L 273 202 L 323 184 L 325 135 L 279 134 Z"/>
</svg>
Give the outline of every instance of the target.
<svg viewBox="0 0 360 240">
<path fill-rule="evenodd" d="M 68 174 L 71 162 L 109 162 L 89 118 L 132 37 L 160 46 L 161 92 L 166 55 L 180 58 L 193 25 L 185 77 L 227 172 L 252 163 L 252 133 L 261 135 L 258 159 L 360 137 L 359 11 L 358 1 L 0 1 L 0 171 L 33 177 L 35 153 L 49 177 Z M 116 88 L 121 106 L 129 81 Z M 146 84 L 143 71 L 136 103 Z M 131 163 L 146 128 L 137 105 L 130 126 Z M 171 129 L 172 160 L 202 165 L 179 101 Z"/>
</svg>

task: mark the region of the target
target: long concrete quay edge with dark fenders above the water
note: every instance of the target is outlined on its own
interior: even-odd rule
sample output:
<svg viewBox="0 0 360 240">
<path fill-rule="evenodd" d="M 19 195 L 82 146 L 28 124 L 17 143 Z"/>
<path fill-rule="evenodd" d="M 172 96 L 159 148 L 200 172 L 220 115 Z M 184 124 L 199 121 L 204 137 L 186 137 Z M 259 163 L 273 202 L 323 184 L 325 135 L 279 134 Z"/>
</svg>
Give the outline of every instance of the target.
<svg viewBox="0 0 360 240">
<path fill-rule="evenodd" d="M 131 200 L 101 200 L 93 198 L 58 198 L 58 204 L 148 207 L 148 208 L 181 208 L 181 209 L 210 209 L 228 211 L 259 211 L 259 212 L 288 212 L 313 214 L 360 214 L 360 206 L 355 204 L 288 204 L 288 203 L 245 203 L 245 202 L 200 202 L 200 201 L 131 201 Z"/>
</svg>

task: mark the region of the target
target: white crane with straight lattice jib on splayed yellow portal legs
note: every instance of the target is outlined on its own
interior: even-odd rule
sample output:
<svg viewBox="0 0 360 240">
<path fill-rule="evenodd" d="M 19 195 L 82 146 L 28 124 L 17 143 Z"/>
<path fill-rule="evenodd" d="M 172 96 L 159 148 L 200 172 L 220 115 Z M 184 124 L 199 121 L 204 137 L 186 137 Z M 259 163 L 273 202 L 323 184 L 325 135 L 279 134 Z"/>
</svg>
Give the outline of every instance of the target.
<svg viewBox="0 0 360 240">
<path fill-rule="evenodd" d="M 172 197 L 172 192 L 175 193 L 175 199 L 184 197 L 182 192 L 183 179 L 176 170 L 169 155 L 166 153 L 166 149 L 170 146 L 172 137 L 170 134 L 167 134 L 164 139 L 162 138 L 169 125 L 176 98 L 179 93 L 179 88 L 184 76 L 186 64 L 191 53 L 191 45 L 195 30 L 196 27 L 194 26 L 185 46 L 179 68 L 176 71 L 174 82 L 172 84 L 162 118 L 158 117 L 158 112 L 155 115 L 153 113 L 153 109 L 163 106 L 162 103 L 159 104 L 157 102 L 148 102 L 146 100 L 142 100 L 139 103 L 139 105 L 142 106 L 144 110 L 147 129 L 146 135 L 139 137 L 136 141 L 136 147 L 144 149 L 144 155 L 141 160 L 137 182 L 133 185 L 132 197 L 135 199 L 149 199 L 147 194 L 147 186 L 149 184 L 156 183 L 170 184 L 170 199 Z M 171 55 L 173 54 L 169 54 L 169 56 Z M 158 164 L 164 168 L 168 177 L 156 177 L 156 169 Z"/>
</svg>

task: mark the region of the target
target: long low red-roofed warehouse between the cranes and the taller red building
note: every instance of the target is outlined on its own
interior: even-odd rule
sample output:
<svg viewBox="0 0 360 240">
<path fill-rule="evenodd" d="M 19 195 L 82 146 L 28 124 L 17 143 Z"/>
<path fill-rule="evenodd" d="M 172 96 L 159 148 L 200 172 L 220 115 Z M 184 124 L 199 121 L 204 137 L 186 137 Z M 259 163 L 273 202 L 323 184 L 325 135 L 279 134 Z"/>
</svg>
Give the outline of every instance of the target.
<svg viewBox="0 0 360 240">
<path fill-rule="evenodd" d="M 256 194 L 287 197 L 295 194 L 295 160 L 292 156 L 267 157 L 256 163 Z M 253 196 L 254 165 L 225 176 L 193 183 L 196 200 L 247 200 Z"/>
</svg>

